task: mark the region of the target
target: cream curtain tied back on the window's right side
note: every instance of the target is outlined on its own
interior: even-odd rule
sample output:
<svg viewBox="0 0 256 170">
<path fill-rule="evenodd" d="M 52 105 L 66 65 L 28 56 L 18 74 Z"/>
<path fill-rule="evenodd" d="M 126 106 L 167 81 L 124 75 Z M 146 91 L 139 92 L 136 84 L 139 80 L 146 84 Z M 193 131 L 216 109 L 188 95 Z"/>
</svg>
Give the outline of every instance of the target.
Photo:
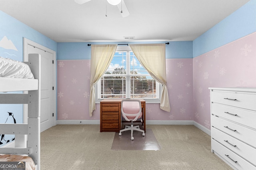
<svg viewBox="0 0 256 170">
<path fill-rule="evenodd" d="M 130 44 L 130 47 L 150 76 L 162 84 L 160 109 L 170 112 L 166 85 L 165 44 Z"/>
</svg>

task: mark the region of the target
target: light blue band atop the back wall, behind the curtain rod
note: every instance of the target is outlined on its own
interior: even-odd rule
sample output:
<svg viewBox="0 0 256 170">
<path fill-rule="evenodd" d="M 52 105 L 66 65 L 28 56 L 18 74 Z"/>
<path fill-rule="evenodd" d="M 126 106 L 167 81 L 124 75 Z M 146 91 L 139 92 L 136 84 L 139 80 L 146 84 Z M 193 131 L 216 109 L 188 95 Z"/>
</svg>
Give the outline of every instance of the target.
<svg viewBox="0 0 256 170">
<path fill-rule="evenodd" d="M 129 42 L 135 43 L 166 43 L 166 42 Z M 192 41 L 170 41 L 166 45 L 166 59 L 190 59 L 193 58 Z M 89 43 L 89 44 L 114 44 L 112 43 Z M 115 44 L 128 44 L 128 42 L 115 42 Z M 80 60 L 91 58 L 91 47 L 88 43 L 57 43 L 58 60 Z"/>
</svg>

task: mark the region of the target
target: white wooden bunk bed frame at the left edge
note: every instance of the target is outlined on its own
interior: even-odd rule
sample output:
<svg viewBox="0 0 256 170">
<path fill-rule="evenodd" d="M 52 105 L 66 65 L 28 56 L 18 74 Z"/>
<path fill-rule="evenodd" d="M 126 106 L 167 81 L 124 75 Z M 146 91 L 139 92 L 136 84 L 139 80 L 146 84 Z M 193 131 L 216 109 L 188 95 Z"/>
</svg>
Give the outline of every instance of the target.
<svg viewBox="0 0 256 170">
<path fill-rule="evenodd" d="M 26 169 L 40 170 L 40 63 L 39 54 L 29 54 L 34 79 L 0 77 L 0 104 L 28 104 L 28 120 L 22 124 L 0 124 L 0 134 L 14 134 L 14 147 L 0 148 L 0 161 L 26 162 Z M 2 159 L 1 159 L 2 157 Z M 29 162 L 32 158 L 32 162 Z M 34 167 L 33 167 L 34 164 Z M 31 167 L 31 168 L 30 168 Z"/>
</svg>

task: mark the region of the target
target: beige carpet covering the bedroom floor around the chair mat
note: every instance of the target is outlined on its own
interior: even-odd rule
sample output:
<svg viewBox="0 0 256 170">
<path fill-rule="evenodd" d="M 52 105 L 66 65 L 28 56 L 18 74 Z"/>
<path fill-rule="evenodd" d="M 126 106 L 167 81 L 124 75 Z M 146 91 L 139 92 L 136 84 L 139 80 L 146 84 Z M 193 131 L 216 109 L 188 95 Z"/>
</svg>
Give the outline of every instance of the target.
<svg viewBox="0 0 256 170">
<path fill-rule="evenodd" d="M 100 125 L 56 125 L 41 133 L 41 170 L 232 170 L 193 125 L 147 125 L 160 150 L 112 150 Z"/>
</svg>

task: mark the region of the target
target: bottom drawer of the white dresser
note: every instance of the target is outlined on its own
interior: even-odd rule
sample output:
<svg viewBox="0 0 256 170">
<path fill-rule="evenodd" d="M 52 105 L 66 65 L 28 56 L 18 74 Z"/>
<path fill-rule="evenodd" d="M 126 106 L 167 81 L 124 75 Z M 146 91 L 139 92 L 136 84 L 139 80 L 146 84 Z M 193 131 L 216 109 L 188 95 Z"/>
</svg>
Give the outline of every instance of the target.
<svg viewBox="0 0 256 170">
<path fill-rule="evenodd" d="M 256 166 L 247 162 L 242 157 L 227 149 L 214 139 L 212 139 L 212 150 L 213 152 L 218 153 L 222 158 L 224 158 L 238 170 L 256 170 Z"/>
</svg>

